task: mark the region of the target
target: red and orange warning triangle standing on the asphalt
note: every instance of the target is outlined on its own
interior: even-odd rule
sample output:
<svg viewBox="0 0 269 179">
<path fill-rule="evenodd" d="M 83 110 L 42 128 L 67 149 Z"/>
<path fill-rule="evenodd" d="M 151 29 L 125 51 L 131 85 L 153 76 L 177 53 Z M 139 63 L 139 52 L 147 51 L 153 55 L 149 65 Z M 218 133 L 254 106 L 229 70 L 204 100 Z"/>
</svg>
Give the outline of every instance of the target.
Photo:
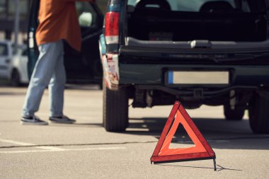
<svg viewBox="0 0 269 179">
<path fill-rule="evenodd" d="M 195 146 L 183 149 L 169 149 L 172 138 L 181 124 L 192 139 Z M 183 105 L 176 101 L 168 117 L 158 144 L 152 154 L 151 163 L 166 163 L 173 161 L 193 161 L 193 160 L 214 160 L 214 169 L 216 170 L 215 154 L 210 145 L 191 120 Z"/>
</svg>

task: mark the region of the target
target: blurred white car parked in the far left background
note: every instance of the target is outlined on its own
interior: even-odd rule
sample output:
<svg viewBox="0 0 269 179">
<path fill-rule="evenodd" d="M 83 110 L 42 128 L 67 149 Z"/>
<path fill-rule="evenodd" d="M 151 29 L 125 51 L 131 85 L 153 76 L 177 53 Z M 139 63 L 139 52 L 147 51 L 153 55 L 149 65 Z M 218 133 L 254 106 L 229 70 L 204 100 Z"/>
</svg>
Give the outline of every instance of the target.
<svg viewBox="0 0 269 179">
<path fill-rule="evenodd" d="M 10 81 L 12 86 L 28 83 L 27 63 L 26 47 L 19 47 L 13 54 L 11 42 L 0 40 L 0 79 Z"/>
</svg>

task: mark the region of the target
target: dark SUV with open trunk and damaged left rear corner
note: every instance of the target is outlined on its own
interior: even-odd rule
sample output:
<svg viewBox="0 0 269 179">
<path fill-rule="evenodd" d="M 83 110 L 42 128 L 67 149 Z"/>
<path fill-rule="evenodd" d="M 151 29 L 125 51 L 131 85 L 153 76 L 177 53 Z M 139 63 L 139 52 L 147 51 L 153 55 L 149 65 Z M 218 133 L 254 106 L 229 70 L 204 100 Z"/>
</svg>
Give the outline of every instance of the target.
<svg viewBox="0 0 269 179">
<path fill-rule="evenodd" d="M 268 0 L 110 0 L 99 45 L 103 125 L 123 131 L 132 107 L 224 105 L 269 133 Z"/>
</svg>

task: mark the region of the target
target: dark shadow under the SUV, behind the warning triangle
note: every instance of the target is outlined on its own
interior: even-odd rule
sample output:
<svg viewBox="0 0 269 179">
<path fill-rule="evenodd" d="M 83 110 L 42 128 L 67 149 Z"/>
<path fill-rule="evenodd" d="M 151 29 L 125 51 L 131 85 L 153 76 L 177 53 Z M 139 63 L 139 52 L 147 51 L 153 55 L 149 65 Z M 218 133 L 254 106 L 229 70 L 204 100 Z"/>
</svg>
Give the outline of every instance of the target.
<svg viewBox="0 0 269 179">
<path fill-rule="evenodd" d="M 130 125 L 125 134 L 149 135 L 159 139 L 166 120 L 166 118 L 149 117 L 130 119 Z M 253 134 L 248 120 L 227 121 L 224 119 L 195 118 L 193 121 L 212 148 L 269 149 L 269 134 Z M 172 143 L 193 144 L 183 127 L 178 127 Z"/>
</svg>

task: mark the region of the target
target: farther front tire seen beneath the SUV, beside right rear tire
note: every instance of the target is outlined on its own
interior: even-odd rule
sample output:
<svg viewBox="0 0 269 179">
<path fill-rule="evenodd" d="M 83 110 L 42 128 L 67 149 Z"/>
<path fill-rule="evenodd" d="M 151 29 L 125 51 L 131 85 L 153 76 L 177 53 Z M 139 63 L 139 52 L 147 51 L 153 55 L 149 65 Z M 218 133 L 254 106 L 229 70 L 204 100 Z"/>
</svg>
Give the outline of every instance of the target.
<svg viewBox="0 0 269 179">
<path fill-rule="evenodd" d="M 231 109 L 230 105 L 224 105 L 224 116 L 226 120 L 242 120 L 245 110 L 240 108 Z"/>
</svg>

